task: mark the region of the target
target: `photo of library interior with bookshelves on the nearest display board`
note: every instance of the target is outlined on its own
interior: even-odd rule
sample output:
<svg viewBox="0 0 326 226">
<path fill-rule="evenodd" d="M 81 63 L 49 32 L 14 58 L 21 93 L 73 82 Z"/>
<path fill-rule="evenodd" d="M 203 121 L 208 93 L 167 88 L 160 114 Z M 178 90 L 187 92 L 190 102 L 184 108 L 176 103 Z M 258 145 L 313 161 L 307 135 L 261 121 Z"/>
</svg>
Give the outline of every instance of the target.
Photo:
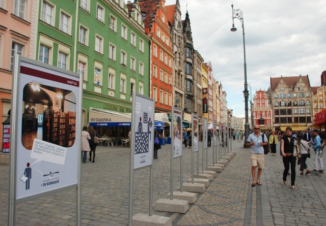
<svg viewBox="0 0 326 226">
<path fill-rule="evenodd" d="M 31 150 L 34 139 L 63 147 L 75 142 L 76 96 L 70 90 L 27 83 L 22 96 L 22 145 Z"/>
</svg>

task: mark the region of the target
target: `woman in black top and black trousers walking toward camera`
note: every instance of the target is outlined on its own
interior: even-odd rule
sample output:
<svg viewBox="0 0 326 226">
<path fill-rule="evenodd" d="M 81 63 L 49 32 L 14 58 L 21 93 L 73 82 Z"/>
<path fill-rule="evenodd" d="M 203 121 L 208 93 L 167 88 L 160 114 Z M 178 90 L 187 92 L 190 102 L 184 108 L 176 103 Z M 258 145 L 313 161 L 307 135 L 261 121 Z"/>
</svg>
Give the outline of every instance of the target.
<svg viewBox="0 0 326 226">
<path fill-rule="evenodd" d="M 283 157 L 284 171 L 283 171 L 283 183 L 287 185 L 286 176 L 289 172 L 291 164 L 291 188 L 295 189 L 295 163 L 296 158 L 293 155 L 294 146 L 296 144 L 295 138 L 292 137 L 292 128 L 286 127 L 286 133 L 281 140 L 281 151 Z"/>
</svg>

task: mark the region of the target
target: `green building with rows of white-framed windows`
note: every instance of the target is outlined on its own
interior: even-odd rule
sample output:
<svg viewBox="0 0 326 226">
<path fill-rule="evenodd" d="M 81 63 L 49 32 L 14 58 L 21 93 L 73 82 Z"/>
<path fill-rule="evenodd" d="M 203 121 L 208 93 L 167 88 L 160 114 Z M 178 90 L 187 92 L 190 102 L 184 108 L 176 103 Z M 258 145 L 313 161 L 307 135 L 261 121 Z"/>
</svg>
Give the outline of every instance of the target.
<svg viewBox="0 0 326 226">
<path fill-rule="evenodd" d="M 83 124 L 93 111 L 92 122 L 128 117 L 132 92 L 149 96 L 150 39 L 137 2 L 128 11 L 122 0 L 40 1 L 38 13 L 36 59 L 84 77 Z"/>
</svg>

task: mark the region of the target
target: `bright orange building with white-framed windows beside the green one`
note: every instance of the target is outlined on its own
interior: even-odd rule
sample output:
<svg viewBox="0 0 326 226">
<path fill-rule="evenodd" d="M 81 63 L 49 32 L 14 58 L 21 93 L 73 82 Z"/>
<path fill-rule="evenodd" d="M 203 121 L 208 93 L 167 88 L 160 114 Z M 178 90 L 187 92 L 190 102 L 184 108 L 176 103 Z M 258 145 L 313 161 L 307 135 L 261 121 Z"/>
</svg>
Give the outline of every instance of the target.
<svg viewBox="0 0 326 226">
<path fill-rule="evenodd" d="M 150 97 L 155 112 L 171 113 L 173 103 L 173 60 L 165 0 L 139 1 L 145 32 L 151 37 Z"/>
</svg>

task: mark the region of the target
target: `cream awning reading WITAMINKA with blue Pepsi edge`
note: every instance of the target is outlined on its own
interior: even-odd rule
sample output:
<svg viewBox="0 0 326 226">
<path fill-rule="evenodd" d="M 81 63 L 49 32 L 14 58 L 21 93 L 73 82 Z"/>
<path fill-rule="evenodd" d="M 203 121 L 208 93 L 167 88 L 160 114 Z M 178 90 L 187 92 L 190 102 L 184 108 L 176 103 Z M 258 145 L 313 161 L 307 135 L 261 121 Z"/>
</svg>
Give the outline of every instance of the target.
<svg viewBox="0 0 326 226">
<path fill-rule="evenodd" d="M 89 124 L 91 126 L 131 126 L 131 114 L 90 108 Z"/>
</svg>

